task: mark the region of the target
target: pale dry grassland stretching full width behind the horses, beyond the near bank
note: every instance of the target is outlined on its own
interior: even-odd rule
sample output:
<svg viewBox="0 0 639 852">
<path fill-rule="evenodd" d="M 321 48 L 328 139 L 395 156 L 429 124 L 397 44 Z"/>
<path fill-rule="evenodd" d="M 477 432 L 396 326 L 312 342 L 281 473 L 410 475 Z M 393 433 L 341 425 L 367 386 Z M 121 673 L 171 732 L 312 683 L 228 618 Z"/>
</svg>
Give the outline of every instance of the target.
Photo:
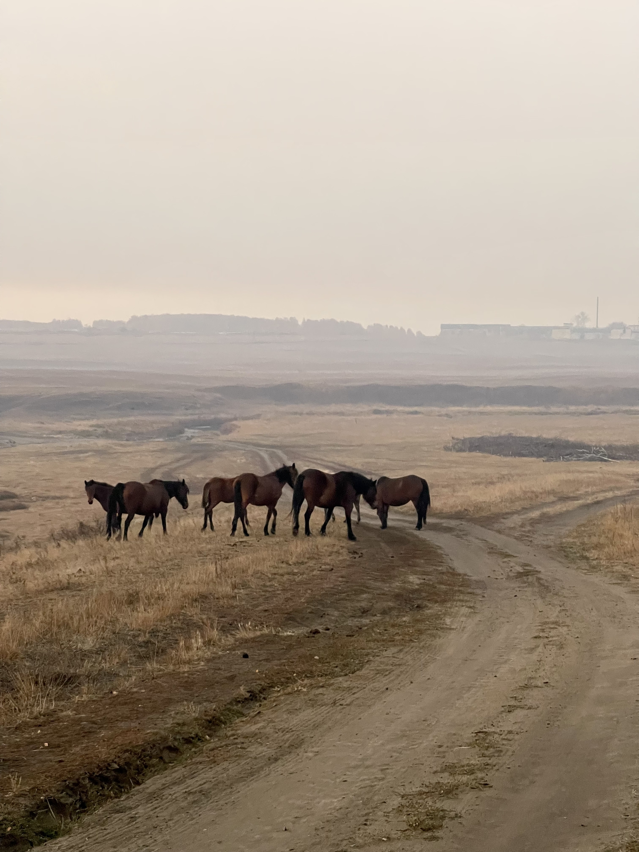
<svg viewBox="0 0 639 852">
<path fill-rule="evenodd" d="M 213 475 L 246 469 L 266 473 L 260 447 L 278 448 L 298 469 L 356 468 L 369 475 L 417 473 L 430 485 L 434 515 L 497 515 L 541 506 L 563 508 L 596 497 L 630 492 L 639 485 L 639 463 L 545 463 L 445 452 L 452 436 L 561 436 L 593 443 L 636 440 L 634 411 L 442 409 L 406 412 L 366 406 L 304 409 L 265 407 L 239 421 L 231 435 L 201 432 L 193 440 L 55 440 L 0 450 L 0 544 L 48 538 L 60 527 L 101 516 L 89 506 L 83 480 L 148 481 L 185 476 L 189 515 L 199 514 L 199 494 Z M 61 428 L 61 425 L 58 424 Z M 285 495 L 290 494 L 285 489 Z M 14 509 L 21 505 L 27 508 Z M 3 511 L 2 509 L 10 509 Z M 170 517 L 181 509 L 172 508 Z"/>
</svg>

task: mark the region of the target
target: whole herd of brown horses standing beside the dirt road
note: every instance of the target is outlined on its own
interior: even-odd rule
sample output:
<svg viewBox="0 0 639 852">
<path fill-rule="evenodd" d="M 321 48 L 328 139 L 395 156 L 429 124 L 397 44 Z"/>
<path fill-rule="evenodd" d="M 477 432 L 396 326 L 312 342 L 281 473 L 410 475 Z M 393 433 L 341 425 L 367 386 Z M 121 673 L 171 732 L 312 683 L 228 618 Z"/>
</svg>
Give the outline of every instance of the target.
<svg viewBox="0 0 639 852">
<path fill-rule="evenodd" d="M 426 513 L 430 505 L 430 492 L 426 480 L 421 476 L 408 475 L 398 478 L 381 476 L 377 480 L 355 473 L 352 470 L 341 470 L 337 474 L 328 474 L 323 470 L 309 468 L 298 473 L 295 463 L 284 464 L 272 473 L 258 476 L 252 473 L 241 474 L 228 479 L 214 476 L 205 485 L 202 492 L 202 508 L 204 509 L 204 526 L 202 531 L 213 527 L 213 509 L 220 503 L 234 505 L 231 535 L 235 535 L 238 523 L 247 536 L 250 527 L 247 510 L 249 506 L 266 507 L 267 518 L 264 524 L 264 535 L 269 534 L 268 524 L 271 522 L 270 534 L 275 533 L 277 524 L 277 504 L 282 496 L 284 486 L 291 486 L 293 500 L 291 515 L 293 519 L 293 535 L 297 535 L 300 527 L 299 515 L 304 501 L 304 533 L 310 535 L 310 519 L 314 509 L 324 509 L 324 523 L 320 532 L 326 532 L 326 526 L 331 518 L 335 521 L 334 510 L 341 507 L 346 515 L 345 523 L 350 541 L 357 539 L 353 533 L 351 515 L 356 509 L 357 522 L 360 522 L 360 498 L 364 498 L 371 509 L 377 510 L 382 529 L 388 523 L 389 507 L 403 506 L 412 503 L 417 511 L 417 529 L 421 530 L 426 523 Z M 112 486 L 107 482 L 85 480 L 84 489 L 89 498 L 89 504 L 96 499 L 107 512 L 107 539 L 112 532 L 118 532 L 124 521 L 124 541 L 127 540 L 129 527 L 135 515 L 144 517 L 138 535 L 141 537 L 147 526 L 153 526 L 153 518 L 162 518 L 162 529 L 166 533 L 166 513 L 172 498 L 176 498 L 182 509 L 188 509 L 188 486 L 184 480 L 167 481 L 152 480 L 150 482 L 118 482 Z M 271 520 L 272 519 L 272 520 Z"/>
</svg>

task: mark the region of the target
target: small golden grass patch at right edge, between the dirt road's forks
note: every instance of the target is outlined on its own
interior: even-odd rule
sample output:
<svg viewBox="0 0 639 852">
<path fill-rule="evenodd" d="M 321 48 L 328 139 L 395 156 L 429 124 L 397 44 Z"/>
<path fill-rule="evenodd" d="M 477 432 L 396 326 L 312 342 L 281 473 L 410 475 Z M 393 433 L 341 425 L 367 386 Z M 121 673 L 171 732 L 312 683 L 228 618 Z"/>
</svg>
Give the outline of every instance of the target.
<svg viewBox="0 0 639 852">
<path fill-rule="evenodd" d="M 639 504 L 620 504 L 580 524 L 566 550 L 602 567 L 639 569 Z"/>
</svg>

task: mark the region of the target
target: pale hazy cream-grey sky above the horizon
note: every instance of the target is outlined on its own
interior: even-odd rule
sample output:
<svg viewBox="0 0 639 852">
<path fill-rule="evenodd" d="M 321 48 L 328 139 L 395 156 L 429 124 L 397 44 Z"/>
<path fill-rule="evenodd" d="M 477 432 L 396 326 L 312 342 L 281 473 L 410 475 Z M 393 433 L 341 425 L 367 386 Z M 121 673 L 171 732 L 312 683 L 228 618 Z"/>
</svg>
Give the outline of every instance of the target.
<svg viewBox="0 0 639 852">
<path fill-rule="evenodd" d="M 639 316 L 636 0 L 2 0 L 5 319 Z"/>
</svg>

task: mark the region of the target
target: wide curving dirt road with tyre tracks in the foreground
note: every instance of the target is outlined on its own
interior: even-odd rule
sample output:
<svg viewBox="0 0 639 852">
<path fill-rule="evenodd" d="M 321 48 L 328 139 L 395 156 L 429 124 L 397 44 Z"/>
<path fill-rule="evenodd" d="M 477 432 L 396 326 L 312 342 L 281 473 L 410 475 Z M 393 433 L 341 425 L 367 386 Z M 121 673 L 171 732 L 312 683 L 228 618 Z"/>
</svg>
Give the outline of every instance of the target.
<svg viewBox="0 0 639 852">
<path fill-rule="evenodd" d="M 383 542 L 375 526 L 361 534 Z M 543 531 L 521 543 L 454 521 L 425 535 L 476 591 L 435 647 L 268 699 L 235 728 L 232 759 L 171 769 L 50 849 L 399 852 L 438 838 L 585 852 L 630 832 L 634 591 L 562 563 Z"/>
</svg>

